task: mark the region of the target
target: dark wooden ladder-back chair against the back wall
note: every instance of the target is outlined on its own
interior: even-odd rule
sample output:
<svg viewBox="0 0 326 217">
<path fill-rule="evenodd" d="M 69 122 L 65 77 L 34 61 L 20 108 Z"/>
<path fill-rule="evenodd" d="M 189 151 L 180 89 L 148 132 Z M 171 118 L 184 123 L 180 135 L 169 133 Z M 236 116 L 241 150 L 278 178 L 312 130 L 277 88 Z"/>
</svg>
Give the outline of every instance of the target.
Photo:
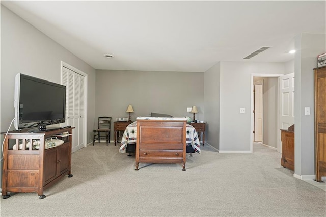
<svg viewBox="0 0 326 217">
<path fill-rule="evenodd" d="M 110 143 L 111 120 L 111 117 L 98 117 L 98 127 L 97 129 L 93 130 L 93 145 L 95 143 L 95 140 L 98 140 L 98 142 L 100 142 L 100 139 L 106 140 L 106 146 L 108 143 Z"/>
</svg>

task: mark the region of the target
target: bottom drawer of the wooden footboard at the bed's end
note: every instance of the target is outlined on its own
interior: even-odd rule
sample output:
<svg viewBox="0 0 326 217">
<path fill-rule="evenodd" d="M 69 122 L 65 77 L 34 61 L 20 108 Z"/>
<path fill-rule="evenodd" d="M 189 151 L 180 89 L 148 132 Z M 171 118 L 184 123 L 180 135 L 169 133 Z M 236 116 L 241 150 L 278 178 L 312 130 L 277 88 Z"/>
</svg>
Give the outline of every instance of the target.
<svg viewBox="0 0 326 217">
<path fill-rule="evenodd" d="M 139 159 L 142 162 L 182 161 L 182 157 L 183 150 L 139 149 Z"/>
</svg>

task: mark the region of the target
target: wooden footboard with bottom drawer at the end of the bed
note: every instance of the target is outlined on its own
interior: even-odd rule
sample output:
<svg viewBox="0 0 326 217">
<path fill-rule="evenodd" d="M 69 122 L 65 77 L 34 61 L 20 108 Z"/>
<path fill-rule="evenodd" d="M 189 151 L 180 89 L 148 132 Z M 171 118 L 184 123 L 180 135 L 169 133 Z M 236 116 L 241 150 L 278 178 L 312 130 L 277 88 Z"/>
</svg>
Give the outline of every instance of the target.
<svg viewBox="0 0 326 217">
<path fill-rule="evenodd" d="M 136 169 L 139 163 L 186 162 L 186 118 L 137 119 Z"/>
</svg>

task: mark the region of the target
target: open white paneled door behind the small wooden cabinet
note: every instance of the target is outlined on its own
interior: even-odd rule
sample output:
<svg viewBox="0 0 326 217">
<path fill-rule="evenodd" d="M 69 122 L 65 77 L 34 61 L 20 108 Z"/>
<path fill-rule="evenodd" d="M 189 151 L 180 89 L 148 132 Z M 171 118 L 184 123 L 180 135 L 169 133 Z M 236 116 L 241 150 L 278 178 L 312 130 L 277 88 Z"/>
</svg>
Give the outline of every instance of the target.
<svg viewBox="0 0 326 217">
<path fill-rule="evenodd" d="M 294 73 L 279 77 L 279 130 L 278 152 L 282 153 L 281 130 L 294 124 Z"/>
</svg>

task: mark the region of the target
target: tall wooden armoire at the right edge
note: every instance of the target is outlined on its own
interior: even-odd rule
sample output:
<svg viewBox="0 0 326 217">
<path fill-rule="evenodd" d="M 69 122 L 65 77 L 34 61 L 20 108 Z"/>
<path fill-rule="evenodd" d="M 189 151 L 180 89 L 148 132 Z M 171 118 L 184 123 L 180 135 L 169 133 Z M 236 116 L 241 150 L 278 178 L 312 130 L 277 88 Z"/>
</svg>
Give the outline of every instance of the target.
<svg viewBox="0 0 326 217">
<path fill-rule="evenodd" d="M 315 173 L 316 181 L 326 176 L 326 66 L 314 69 Z"/>
</svg>

